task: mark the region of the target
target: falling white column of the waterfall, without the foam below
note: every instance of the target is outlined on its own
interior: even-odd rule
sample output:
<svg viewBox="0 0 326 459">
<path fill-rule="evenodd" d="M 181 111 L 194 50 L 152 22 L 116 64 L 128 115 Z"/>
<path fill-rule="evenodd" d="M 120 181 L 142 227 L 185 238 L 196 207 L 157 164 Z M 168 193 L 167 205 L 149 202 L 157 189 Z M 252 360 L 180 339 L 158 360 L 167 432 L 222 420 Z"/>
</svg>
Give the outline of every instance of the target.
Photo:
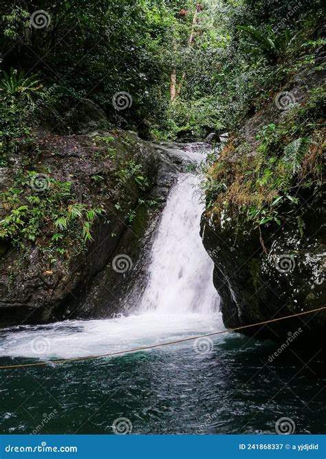
<svg viewBox="0 0 326 459">
<path fill-rule="evenodd" d="M 149 284 L 140 310 L 160 314 L 210 314 L 217 307 L 213 261 L 199 236 L 204 205 L 199 178 L 181 174 L 171 190 L 151 251 Z"/>
</svg>

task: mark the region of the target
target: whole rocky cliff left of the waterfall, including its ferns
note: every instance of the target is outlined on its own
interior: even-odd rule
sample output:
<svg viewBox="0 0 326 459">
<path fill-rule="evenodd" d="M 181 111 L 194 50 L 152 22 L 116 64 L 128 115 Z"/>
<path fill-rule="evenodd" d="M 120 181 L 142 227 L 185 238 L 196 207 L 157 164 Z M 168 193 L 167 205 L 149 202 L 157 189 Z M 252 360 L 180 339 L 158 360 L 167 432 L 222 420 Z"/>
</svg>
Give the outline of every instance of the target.
<svg viewBox="0 0 326 459">
<path fill-rule="evenodd" d="M 37 129 L 0 169 L 1 326 L 109 317 L 143 288 L 151 235 L 187 160 L 131 131 L 89 128 Z"/>
</svg>

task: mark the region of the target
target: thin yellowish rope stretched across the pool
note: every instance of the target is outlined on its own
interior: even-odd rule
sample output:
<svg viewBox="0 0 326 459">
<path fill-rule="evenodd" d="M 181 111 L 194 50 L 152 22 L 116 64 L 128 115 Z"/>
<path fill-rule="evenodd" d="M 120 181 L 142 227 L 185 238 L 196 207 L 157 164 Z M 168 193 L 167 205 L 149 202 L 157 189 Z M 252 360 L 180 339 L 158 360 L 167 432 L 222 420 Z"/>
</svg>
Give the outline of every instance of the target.
<svg viewBox="0 0 326 459">
<path fill-rule="evenodd" d="M 272 322 L 278 322 L 278 321 L 282 321 L 285 319 L 292 319 L 293 317 L 299 317 L 305 314 L 312 314 L 312 312 L 318 312 L 318 311 L 325 310 L 325 309 L 326 309 L 326 306 L 323 306 L 323 308 L 313 309 L 311 311 L 305 311 L 305 312 L 298 312 L 298 314 L 292 314 L 290 316 L 279 317 L 279 319 L 270 319 L 269 321 L 251 323 L 250 325 L 243 325 L 242 327 L 237 327 L 237 328 L 227 328 L 226 330 L 220 330 L 219 332 L 201 334 L 197 337 L 177 339 L 175 341 L 168 341 L 166 343 L 152 344 L 152 345 L 144 346 L 142 348 L 133 348 L 133 349 L 127 349 L 127 350 L 122 350 L 122 351 L 109 352 L 108 354 L 89 355 L 89 356 L 84 356 L 84 357 L 72 357 L 71 359 L 52 360 L 52 361 L 45 361 L 45 362 L 38 362 L 38 363 L 23 363 L 21 365 L 19 364 L 5 365 L 5 366 L 0 366 L 0 370 L 9 370 L 10 368 L 22 368 L 22 367 L 41 367 L 41 366 L 57 364 L 57 363 L 69 363 L 69 362 L 77 362 L 77 361 L 83 361 L 83 360 L 100 359 L 102 357 L 111 357 L 111 356 L 117 356 L 121 354 L 129 354 L 131 352 L 142 352 L 148 349 L 163 348 L 164 346 L 168 346 L 168 345 L 173 345 L 177 343 L 185 343 L 186 341 L 194 341 L 196 339 L 201 339 L 201 338 L 215 337 L 218 334 L 237 332 L 239 330 L 244 330 L 245 328 L 258 327 L 259 325 L 266 325 Z"/>
</svg>

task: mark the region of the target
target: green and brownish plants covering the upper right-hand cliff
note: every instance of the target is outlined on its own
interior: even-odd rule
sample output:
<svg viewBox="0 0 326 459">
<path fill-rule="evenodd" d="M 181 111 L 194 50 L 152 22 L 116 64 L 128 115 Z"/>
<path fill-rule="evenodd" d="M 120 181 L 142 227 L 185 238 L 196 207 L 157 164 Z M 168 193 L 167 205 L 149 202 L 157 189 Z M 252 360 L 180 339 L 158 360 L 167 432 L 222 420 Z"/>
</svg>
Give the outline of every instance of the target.
<svg viewBox="0 0 326 459">
<path fill-rule="evenodd" d="M 282 122 L 259 129 L 257 145 L 233 138 L 208 170 L 206 207 L 222 222 L 250 222 L 251 228 L 295 215 L 320 198 L 323 189 L 324 133 L 320 109 L 325 93 L 310 92 Z M 300 214 L 296 215 L 299 231 Z M 301 226 L 300 226 L 301 225 Z"/>
</svg>

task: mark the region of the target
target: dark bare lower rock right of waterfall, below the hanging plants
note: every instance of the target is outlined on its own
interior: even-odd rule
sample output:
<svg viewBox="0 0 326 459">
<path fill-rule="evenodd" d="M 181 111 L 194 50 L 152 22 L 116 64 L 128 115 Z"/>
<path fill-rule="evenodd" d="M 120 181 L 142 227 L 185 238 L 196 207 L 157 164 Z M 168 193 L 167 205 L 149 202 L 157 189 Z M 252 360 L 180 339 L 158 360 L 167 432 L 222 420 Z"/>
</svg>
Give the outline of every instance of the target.
<svg viewBox="0 0 326 459">
<path fill-rule="evenodd" d="M 317 215 L 306 215 L 303 242 L 290 226 L 236 234 L 202 219 L 202 237 L 215 263 L 214 284 L 221 297 L 226 327 L 237 328 L 325 306 L 325 233 Z M 325 345 L 326 314 L 308 314 L 243 330 L 250 336 L 286 341 L 299 330 L 296 343 Z"/>
</svg>

